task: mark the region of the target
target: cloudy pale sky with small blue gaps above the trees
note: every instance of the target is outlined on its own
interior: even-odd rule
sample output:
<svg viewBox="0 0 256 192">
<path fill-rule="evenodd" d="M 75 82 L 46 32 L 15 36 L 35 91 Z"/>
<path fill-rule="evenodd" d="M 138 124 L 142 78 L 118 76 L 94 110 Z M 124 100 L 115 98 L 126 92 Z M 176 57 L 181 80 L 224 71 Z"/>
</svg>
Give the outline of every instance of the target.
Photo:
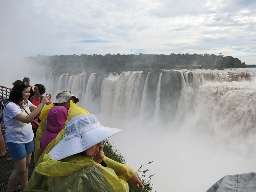
<svg viewBox="0 0 256 192">
<path fill-rule="evenodd" d="M 256 64 L 255 7 L 255 0 L 0 0 L 0 56 L 222 53 Z"/>
</svg>

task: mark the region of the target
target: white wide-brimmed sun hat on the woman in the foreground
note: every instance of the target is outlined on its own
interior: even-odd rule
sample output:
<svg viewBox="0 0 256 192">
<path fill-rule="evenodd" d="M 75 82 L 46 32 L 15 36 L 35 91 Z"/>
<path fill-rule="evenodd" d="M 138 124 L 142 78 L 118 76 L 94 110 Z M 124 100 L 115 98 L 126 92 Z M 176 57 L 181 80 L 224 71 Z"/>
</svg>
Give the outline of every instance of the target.
<svg viewBox="0 0 256 192">
<path fill-rule="evenodd" d="M 83 152 L 122 130 L 104 127 L 95 115 L 87 114 L 72 118 L 65 131 L 63 139 L 48 153 L 52 160 Z"/>
</svg>

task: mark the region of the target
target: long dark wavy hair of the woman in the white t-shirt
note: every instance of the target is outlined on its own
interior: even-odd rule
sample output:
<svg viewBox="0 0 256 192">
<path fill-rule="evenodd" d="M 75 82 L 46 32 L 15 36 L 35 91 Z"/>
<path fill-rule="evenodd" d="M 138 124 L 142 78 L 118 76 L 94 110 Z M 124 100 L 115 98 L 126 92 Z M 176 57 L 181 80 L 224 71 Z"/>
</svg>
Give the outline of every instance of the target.
<svg viewBox="0 0 256 192">
<path fill-rule="evenodd" d="M 14 102 L 17 105 L 19 105 L 20 108 L 23 108 L 22 105 L 20 104 L 23 102 L 22 91 L 24 91 L 28 87 L 29 87 L 29 83 L 27 82 L 21 81 L 16 83 L 10 92 L 10 96 L 7 102 Z"/>
</svg>

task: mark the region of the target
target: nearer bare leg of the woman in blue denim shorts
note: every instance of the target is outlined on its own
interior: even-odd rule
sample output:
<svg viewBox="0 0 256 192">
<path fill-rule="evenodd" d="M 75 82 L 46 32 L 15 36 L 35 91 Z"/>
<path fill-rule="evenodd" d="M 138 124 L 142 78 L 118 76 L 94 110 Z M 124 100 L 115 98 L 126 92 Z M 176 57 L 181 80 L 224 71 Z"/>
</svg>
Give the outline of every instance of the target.
<svg viewBox="0 0 256 192">
<path fill-rule="evenodd" d="M 30 154 L 30 157 L 31 157 L 31 154 Z M 21 159 L 19 161 L 14 161 L 15 170 L 9 177 L 6 192 L 13 191 L 13 187 L 17 183 L 20 176 L 26 172 L 26 164 L 27 164 L 26 158 Z"/>
</svg>

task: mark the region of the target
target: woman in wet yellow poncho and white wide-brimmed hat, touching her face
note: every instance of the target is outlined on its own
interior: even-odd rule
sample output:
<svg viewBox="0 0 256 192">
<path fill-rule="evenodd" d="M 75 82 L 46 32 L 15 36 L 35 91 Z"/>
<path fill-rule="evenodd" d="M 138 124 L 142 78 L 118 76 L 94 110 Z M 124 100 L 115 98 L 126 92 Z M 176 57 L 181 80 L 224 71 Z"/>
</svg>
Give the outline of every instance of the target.
<svg viewBox="0 0 256 192">
<path fill-rule="evenodd" d="M 115 173 L 115 168 L 123 166 L 122 164 L 104 158 L 103 145 L 101 141 L 120 132 L 120 129 L 114 129 L 101 126 L 97 118 L 92 114 L 78 115 L 71 119 L 65 127 L 67 132 L 63 139 L 48 153 L 54 161 L 72 162 L 66 157 L 72 156 L 81 158 L 88 165 L 79 171 L 62 177 L 49 177 L 49 191 L 74 191 L 73 184 L 79 186 L 76 190 L 82 191 L 128 191 L 127 178 L 119 179 Z M 36 172 L 48 175 L 48 162 L 38 165 Z M 118 172 L 118 171 L 117 171 Z M 52 174 L 52 173 L 50 173 Z M 135 178 L 139 177 L 134 175 Z M 130 183 L 131 182 L 131 183 Z M 128 183 L 134 183 L 133 179 Z M 135 182 L 137 187 L 141 182 Z M 136 188 L 137 188 L 136 187 Z M 143 185 L 141 184 L 143 188 Z"/>
</svg>

